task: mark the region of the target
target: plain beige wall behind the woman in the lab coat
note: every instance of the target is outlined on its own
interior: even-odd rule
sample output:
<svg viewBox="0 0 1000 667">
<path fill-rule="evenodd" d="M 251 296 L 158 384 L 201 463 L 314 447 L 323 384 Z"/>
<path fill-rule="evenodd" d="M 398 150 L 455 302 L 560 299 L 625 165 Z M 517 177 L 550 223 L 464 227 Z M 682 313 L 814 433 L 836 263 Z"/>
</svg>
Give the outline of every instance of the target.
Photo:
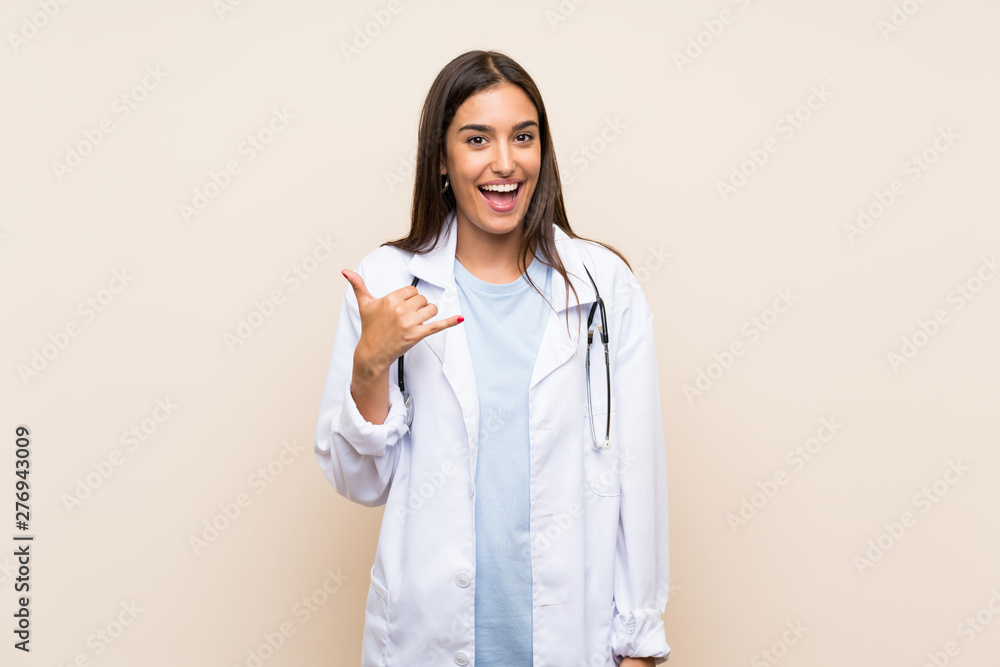
<svg viewBox="0 0 1000 667">
<path fill-rule="evenodd" d="M 996 3 L 220 7 L 0 10 L 0 539 L 17 532 L 22 423 L 37 536 L 30 655 L 10 646 L 14 560 L 0 556 L 0 662 L 248 665 L 285 624 L 263 664 L 358 663 L 381 510 L 338 496 L 312 453 L 340 269 L 407 229 L 434 76 L 496 48 L 542 91 L 575 230 L 626 253 L 656 315 L 670 663 L 996 664 L 1000 279 L 983 280 L 1000 252 Z M 391 20 L 348 58 L 372 12 Z M 294 118 L 267 136 L 275 109 Z M 783 120 L 796 113 L 798 127 Z M 88 146 L 102 119 L 113 131 Z M 251 160 L 240 146 L 258 133 L 273 141 Z M 58 174 L 81 143 L 89 154 Z M 755 153 L 762 165 L 741 166 Z M 239 173 L 186 221 L 180 206 L 230 161 Z M 723 197 L 741 168 L 752 175 Z M 894 199 L 881 217 L 845 228 L 879 197 Z M 274 290 L 281 302 L 227 345 Z M 775 320 L 779 291 L 792 305 Z M 893 364 L 904 337 L 919 347 Z M 24 379 L 36 352 L 50 358 Z M 715 379 L 689 400 L 699 371 Z M 144 439 L 123 441 L 133 427 Z M 734 529 L 744 499 L 756 514 L 744 506 Z M 225 529 L 193 547 L 213 520 Z M 890 548 L 860 563 L 880 539 Z"/>
</svg>

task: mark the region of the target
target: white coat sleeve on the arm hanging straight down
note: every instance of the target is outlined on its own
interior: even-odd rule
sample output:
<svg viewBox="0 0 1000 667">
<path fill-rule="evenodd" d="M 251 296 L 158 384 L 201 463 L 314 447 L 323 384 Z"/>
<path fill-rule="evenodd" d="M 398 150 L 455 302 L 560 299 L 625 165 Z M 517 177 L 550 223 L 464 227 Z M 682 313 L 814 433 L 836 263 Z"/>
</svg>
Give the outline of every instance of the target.
<svg viewBox="0 0 1000 667">
<path fill-rule="evenodd" d="M 621 332 L 627 340 L 615 370 L 621 499 L 612 650 L 616 664 L 631 656 L 652 657 L 660 665 L 670 653 L 662 619 L 669 589 L 666 448 L 653 315 L 645 297 L 635 303 L 639 307 L 623 324 L 641 323 Z"/>
</svg>

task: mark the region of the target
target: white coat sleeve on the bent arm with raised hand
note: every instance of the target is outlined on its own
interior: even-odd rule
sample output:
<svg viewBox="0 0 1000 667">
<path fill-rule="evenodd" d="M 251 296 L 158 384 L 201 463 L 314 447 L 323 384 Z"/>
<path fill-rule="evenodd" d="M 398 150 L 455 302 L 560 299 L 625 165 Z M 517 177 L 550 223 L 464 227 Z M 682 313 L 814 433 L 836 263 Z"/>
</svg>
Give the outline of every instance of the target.
<svg viewBox="0 0 1000 667">
<path fill-rule="evenodd" d="M 363 266 L 355 271 L 364 277 Z M 358 301 L 354 289 L 348 285 L 320 401 L 314 451 L 337 493 L 361 505 L 375 507 L 386 502 L 399 460 L 396 445 L 408 428 L 403 395 L 391 380 L 385 422 L 372 424 L 361 416 L 351 396 L 354 349 L 360 338 Z"/>
</svg>

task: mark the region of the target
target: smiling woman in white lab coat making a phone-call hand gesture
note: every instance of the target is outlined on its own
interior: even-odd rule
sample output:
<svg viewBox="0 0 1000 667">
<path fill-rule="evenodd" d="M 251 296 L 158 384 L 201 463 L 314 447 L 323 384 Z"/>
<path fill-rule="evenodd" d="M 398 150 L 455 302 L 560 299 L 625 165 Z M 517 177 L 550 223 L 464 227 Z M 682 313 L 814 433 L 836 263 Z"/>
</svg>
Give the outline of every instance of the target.
<svg viewBox="0 0 1000 667">
<path fill-rule="evenodd" d="M 418 148 L 409 234 L 344 270 L 316 432 L 334 488 L 385 505 L 362 664 L 661 664 L 666 463 L 642 289 L 570 228 L 545 106 L 507 56 L 440 72 Z"/>
</svg>

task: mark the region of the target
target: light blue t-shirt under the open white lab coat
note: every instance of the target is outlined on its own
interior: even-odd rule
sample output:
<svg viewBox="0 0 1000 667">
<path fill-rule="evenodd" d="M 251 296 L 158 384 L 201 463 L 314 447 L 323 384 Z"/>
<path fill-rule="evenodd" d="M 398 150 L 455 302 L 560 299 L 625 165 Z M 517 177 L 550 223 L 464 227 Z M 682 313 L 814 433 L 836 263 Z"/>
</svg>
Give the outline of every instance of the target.
<svg viewBox="0 0 1000 667">
<path fill-rule="evenodd" d="M 551 301 L 552 267 L 528 275 Z M 496 285 L 455 260 L 479 392 L 476 460 L 476 667 L 530 667 L 528 385 L 550 306 L 523 275 Z"/>
</svg>

